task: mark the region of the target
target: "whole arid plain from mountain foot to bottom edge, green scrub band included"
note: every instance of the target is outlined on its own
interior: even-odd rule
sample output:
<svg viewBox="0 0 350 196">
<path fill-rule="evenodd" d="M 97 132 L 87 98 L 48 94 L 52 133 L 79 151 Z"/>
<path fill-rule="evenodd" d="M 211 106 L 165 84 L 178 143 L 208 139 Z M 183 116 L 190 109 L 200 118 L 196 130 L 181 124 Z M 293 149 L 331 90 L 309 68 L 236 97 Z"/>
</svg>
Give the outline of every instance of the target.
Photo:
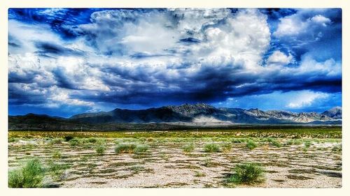
<svg viewBox="0 0 350 196">
<path fill-rule="evenodd" d="M 36 158 L 43 187 L 59 188 L 339 188 L 341 138 L 342 128 L 9 131 L 8 169 Z M 243 163 L 260 181 L 228 180 Z"/>
</svg>

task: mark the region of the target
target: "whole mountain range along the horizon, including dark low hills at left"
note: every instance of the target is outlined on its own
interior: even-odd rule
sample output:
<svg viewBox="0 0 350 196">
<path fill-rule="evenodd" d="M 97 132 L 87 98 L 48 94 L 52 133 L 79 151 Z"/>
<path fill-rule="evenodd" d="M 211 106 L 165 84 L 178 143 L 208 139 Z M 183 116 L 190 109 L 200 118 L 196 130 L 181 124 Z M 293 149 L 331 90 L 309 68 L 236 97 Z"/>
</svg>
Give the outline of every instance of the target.
<svg viewBox="0 0 350 196">
<path fill-rule="evenodd" d="M 164 106 L 146 110 L 115 109 L 110 112 L 76 114 L 70 118 L 27 114 L 9 116 L 9 129 L 91 129 L 176 128 L 177 126 L 235 125 L 341 125 L 342 107 L 322 113 L 262 111 L 258 108 L 213 107 L 204 103 Z"/>
</svg>

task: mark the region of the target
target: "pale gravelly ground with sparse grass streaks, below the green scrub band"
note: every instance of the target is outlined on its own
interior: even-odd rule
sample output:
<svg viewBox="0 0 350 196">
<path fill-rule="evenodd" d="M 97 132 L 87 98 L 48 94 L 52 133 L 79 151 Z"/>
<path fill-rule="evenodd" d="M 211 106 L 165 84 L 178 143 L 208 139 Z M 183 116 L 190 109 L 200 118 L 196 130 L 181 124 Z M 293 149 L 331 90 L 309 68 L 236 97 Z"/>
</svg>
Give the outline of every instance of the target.
<svg viewBox="0 0 350 196">
<path fill-rule="evenodd" d="M 146 142 L 147 143 L 147 142 Z M 222 146 L 225 142 L 216 142 Z M 227 142 L 226 142 L 227 143 Z M 28 145 L 29 144 L 29 145 Z M 284 145 L 260 144 L 249 150 L 245 144 L 232 144 L 228 152 L 205 153 L 206 142 L 195 142 L 195 150 L 183 153 L 185 142 L 148 142 L 145 153 L 114 153 L 112 141 L 103 156 L 92 149 L 72 147 L 68 143 L 48 145 L 43 141 L 20 140 L 8 146 L 9 169 L 24 160 L 40 158 L 69 164 L 54 183 L 62 188 L 340 188 L 342 186 L 341 143 Z M 62 151 L 62 158 L 52 159 L 52 152 Z M 265 181 L 251 185 L 228 185 L 225 176 L 238 163 L 260 163 Z"/>
</svg>

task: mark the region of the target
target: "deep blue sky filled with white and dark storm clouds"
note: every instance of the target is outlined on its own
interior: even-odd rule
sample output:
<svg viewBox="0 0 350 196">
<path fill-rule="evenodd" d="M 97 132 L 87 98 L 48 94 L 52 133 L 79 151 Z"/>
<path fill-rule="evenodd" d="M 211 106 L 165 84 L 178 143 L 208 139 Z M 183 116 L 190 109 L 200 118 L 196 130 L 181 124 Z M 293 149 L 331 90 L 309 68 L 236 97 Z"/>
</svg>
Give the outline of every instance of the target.
<svg viewBox="0 0 350 196">
<path fill-rule="evenodd" d="M 8 111 L 342 106 L 342 10 L 8 10 Z"/>
</svg>

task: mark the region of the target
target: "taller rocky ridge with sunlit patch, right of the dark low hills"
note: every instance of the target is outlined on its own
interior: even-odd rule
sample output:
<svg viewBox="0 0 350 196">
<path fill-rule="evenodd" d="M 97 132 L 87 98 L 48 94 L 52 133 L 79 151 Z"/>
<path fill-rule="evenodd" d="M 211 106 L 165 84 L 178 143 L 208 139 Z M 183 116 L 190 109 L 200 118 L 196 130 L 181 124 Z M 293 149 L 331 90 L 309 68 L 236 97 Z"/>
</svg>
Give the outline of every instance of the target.
<svg viewBox="0 0 350 196">
<path fill-rule="evenodd" d="M 316 112 L 285 112 L 258 108 L 213 107 L 204 103 L 195 105 L 164 106 L 146 110 L 121 110 L 110 112 L 84 113 L 71 116 L 70 119 L 90 123 L 311 123 L 328 122 L 342 119 L 342 108 L 334 107 L 321 114 Z"/>
</svg>

